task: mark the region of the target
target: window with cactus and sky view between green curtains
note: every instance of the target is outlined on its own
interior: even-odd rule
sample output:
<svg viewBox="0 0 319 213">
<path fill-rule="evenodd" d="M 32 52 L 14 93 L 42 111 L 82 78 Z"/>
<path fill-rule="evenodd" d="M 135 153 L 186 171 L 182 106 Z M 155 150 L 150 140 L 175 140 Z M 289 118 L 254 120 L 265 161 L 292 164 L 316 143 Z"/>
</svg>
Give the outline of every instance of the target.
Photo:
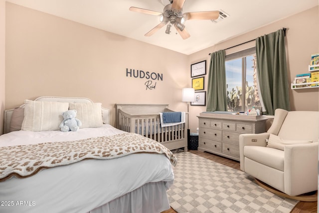
<svg viewBox="0 0 319 213">
<path fill-rule="evenodd" d="M 255 47 L 226 55 L 225 69 L 228 111 L 260 108 Z"/>
</svg>

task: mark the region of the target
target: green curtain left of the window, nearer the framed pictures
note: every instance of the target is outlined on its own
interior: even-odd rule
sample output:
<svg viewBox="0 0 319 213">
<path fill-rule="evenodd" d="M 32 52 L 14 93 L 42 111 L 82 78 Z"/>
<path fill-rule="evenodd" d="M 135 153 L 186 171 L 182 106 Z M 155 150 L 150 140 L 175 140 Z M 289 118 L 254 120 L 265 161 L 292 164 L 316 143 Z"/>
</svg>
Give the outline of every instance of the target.
<svg viewBox="0 0 319 213">
<path fill-rule="evenodd" d="M 227 111 L 225 50 L 210 53 L 206 111 Z"/>
</svg>

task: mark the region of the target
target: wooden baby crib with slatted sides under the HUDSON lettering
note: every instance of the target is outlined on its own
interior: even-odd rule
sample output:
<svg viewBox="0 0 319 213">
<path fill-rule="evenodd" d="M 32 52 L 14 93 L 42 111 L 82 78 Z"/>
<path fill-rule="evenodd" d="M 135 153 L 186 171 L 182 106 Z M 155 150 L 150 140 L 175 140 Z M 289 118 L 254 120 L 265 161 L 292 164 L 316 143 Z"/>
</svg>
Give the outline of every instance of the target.
<svg viewBox="0 0 319 213">
<path fill-rule="evenodd" d="M 181 122 L 163 125 L 160 114 L 173 112 L 167 104 L 116 104 L 117 128 L 152 138 L 169 150 L 187 152 L 187 116 Z"/>
</svg>

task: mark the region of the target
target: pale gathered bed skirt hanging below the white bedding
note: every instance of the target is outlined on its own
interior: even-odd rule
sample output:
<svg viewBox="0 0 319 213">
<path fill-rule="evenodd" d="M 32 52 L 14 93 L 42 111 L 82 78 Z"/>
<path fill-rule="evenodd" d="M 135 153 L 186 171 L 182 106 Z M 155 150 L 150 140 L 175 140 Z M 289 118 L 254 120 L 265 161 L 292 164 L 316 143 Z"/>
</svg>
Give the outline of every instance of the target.
<svg viewBox="0 0 319 213">
<path fill-rule="evenodd" d="M 89 213 L 160 213 L 170 208 L 164 182 L 148 183 Z"/>
</svg>

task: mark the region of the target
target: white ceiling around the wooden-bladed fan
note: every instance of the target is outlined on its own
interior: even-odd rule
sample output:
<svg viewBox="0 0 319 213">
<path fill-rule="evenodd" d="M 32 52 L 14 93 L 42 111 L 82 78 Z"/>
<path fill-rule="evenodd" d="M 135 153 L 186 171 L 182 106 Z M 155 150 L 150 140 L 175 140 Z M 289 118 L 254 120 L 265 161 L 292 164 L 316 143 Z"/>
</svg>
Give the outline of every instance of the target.
<svg viewBox="0 0 319 213">
<path fill-rule="evenodd" d="M 190 37 L 183 40 L 174 27 L 154 35 L 145 33 L 160 21 L 158 16 L 129 11 L 130 6 L 162 12 L 168 0 L 7 0 L 129 38 L 191 54 L 234 36 L 318 5 L 318 0 L 186 0 L 183 12 L 222 9 L 230 16 L 219 23 L 188 20 Z M 285 26 L 283 26 L 285 27 Z"/>
</svg>

